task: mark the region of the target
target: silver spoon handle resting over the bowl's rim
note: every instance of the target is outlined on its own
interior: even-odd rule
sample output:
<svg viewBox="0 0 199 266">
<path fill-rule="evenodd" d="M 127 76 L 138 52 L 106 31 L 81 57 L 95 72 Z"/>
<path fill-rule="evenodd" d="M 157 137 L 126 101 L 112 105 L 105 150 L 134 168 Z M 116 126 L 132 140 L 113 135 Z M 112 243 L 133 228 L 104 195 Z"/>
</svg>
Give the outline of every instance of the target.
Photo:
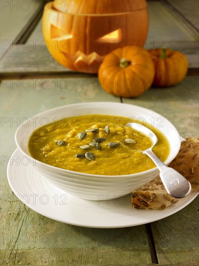
<svg viewBox="0 0 199 266">
<path fill-rule="evenodd" d="M 174 198 L 183 198 L 191 191 L 191 184 L 180 173 L 166 166 L 151 149 L 143 151 L 156 164 L 160 171 L 160 178 L 167 192 Z"/>
</svg>

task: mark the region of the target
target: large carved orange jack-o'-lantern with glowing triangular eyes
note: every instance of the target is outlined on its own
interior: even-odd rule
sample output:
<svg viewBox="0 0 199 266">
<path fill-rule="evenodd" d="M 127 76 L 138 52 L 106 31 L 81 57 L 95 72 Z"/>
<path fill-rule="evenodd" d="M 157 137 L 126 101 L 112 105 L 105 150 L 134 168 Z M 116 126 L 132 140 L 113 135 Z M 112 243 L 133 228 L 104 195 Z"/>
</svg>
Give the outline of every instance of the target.
<svg viewBox="0 0 199 266">
<path fill-rule="evenodd" d="M 98 73 L 105 55 L 143 47 L 148 33 L 145 0 L 55 0 L 43 13 L 43 36 L 63 66 Z"/>
</svg>

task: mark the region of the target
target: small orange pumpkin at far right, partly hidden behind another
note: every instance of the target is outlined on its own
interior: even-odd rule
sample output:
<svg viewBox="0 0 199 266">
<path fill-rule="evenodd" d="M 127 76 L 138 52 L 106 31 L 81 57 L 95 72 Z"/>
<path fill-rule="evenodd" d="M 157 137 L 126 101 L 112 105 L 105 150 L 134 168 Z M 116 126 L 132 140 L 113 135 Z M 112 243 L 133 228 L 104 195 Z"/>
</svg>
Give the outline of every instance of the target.
<svg viewBox="0 0 199 266">
<path fill-rule="evenodd" d="M 151 49 L 149 53 L 155 65 L 154 86 L 173 86 L 185 78 L 188 60 L 184 54 L 166 48 Z"/>
</svg>

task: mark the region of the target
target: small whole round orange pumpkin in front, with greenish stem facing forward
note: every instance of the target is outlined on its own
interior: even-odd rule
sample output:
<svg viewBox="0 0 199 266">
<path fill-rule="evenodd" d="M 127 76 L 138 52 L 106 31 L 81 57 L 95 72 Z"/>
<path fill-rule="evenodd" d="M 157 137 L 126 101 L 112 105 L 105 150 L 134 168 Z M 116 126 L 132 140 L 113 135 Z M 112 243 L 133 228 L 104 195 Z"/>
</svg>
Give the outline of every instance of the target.
<svg viewBox="0 0 199 266">
<path fill-rule="evenodd" d="M 149 89 L 155 75 L 147 50 L 137 46 L 117 49 L 99 67 L 99 82 L 107 92 L 120 97 L 137 97 Z"/>
</svg>

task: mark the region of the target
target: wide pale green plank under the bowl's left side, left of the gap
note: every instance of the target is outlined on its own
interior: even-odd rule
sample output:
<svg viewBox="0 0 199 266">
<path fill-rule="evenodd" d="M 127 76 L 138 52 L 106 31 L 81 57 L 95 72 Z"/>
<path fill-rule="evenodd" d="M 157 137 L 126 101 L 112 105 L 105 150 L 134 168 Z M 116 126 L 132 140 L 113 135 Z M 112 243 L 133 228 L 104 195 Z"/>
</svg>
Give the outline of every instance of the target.
<svg viewBox="0 0 199 266">
<path fill-rule="evenodd" d="M 120 99 L 99 88 L 97 78 L 2 80 L 0 86 L 4 119 L 1 124 L 0 265 L 150 264 L 144 225 L 108 230 L 53 221 L 20 202 L 6 177 L 5 161 L 16 148 L 14 132 L 23 118 L 64 104 L 120 102 Z"/>
</svg>

